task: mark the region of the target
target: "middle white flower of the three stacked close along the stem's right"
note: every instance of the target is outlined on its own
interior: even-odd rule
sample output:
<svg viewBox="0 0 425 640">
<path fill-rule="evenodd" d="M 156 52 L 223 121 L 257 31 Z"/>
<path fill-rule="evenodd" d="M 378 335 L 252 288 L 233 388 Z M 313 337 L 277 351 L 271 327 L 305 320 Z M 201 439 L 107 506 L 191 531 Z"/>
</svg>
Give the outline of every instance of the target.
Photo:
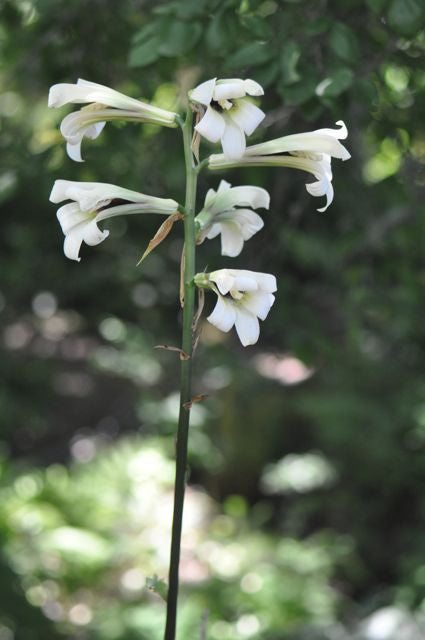
<svg viewBox="0 0 425 640">
<path fill-rule="evenodd" d="M 208 191 L 204 208 L 195 218 L 199 225 L 198 243 L 221 233 L 221 254 L 231 258 L 238 256 L 244 241 L 252 238 L 264 226 L 260 216 L 252 209 L 268 209 L 269 205 L 270 196 L 265 189 L 250 185 L 232 187 L 222 180 L 217 191 Z"/>
</svg>

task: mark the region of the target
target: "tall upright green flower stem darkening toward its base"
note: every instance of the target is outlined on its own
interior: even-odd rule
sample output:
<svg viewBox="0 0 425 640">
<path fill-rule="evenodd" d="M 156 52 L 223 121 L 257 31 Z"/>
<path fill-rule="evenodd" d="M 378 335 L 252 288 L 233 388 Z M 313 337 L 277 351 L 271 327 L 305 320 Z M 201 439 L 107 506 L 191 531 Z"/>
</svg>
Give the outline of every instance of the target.
<svg viewBox="0 0 425 640">
<path fill-rule="evenodd" d="M 186 165 L 186 200 L 184 217 L 184 306 L 182 350 L 190 357 L 181 361 L 180 413 L 176 441 L 176 480 L 174 485 L 174 512 L 171 534 L 170 571 L 168 577 L 167 619 L 164 640 L 175 640 L 177 597 L 179 590 L 180 543 L 183 520 L 184 492 L 187 471 L 187 442 L 189 435 L 190 401 L 192 399 L 192 323 L 195 313 L 195 204 L 197 170 L 194 164 L 192 144 L 192 111 L 187 110 L 182 126 Z"/>
</svg>

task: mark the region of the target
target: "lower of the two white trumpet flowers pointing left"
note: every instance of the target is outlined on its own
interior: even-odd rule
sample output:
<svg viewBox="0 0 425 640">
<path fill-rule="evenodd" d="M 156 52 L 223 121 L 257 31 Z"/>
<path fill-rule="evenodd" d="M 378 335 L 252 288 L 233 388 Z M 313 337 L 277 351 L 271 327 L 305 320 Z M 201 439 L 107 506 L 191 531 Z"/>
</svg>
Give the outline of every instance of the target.
<svg viewBox="0 0 425 640">
<path fill-rule="evenodd" d="M 147 196 L 102 182 L 56 180 L 49 199 L 55 203 L 73 200 L 60 207 L 57 218 L 65 234 L 64 253 L 78 262 L 83 241 L 94 246 L 108 237 L 109 231 L 101 231 L 97 226 L 101 220 L 132 213 L 170 215 L 178 208 L 175 200 Z"/>
</svg>

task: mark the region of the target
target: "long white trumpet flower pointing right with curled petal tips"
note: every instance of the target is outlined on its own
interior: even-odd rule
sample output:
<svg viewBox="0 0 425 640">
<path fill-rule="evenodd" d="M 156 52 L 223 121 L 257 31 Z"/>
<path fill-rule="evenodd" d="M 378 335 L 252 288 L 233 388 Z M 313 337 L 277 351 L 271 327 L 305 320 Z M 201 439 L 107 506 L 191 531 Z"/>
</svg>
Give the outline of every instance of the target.
<svg viewBox="0 0 425 640">
<path fill-rule="evenodd" d="M 318 211 L 326 211 L 334 197 L 332 186 L 331 158 L 348 160 L 351 156 L 340 140 L 347 137 L 347 128 L 342 120 L 336 123 L 339 129 L 318 129 L 262 142 L 247 147 L 242 158 L 232 161 L 224 154 L 209 158 L 210 169 L 239 166 L 276 166 L 302 169 L 312 173 L 317 182 L 306 184 L 312 196 L 326 196 L 326 205 Z M 281 155 L 284 153 L 290 155 Z"/>
</svg>

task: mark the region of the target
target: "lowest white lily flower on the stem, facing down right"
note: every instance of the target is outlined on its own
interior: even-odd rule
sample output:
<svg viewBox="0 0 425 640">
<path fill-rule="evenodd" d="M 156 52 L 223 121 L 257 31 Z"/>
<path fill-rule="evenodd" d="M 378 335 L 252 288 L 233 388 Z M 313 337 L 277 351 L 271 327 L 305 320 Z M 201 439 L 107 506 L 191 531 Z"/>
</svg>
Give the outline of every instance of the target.
<svg viewBox="0 0 425 640">
<path fill-rule="evenodd" d="M 275 276 L 244 269 L 219 269 L 197 274 L 195 284 L 213 289 L 218 296 L 208 322 L 225 332 L 235 325 L 244 347 L 257 342 L 258 318 L 265 320 L 275 300 Z"/>
</svg>

